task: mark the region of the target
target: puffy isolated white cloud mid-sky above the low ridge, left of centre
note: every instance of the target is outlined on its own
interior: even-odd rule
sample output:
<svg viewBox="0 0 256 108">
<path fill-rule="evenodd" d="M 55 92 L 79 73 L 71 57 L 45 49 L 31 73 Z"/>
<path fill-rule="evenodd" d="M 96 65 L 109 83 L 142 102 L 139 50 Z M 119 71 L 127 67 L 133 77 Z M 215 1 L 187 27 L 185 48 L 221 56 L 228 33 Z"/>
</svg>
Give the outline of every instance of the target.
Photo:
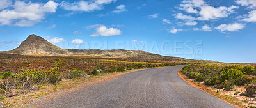
<svg viewBox="0 0 256 108">
<path fill-rule="evenodd" d="M 100 27 L 97 27 L 96 32 L 93 33 L 90 36 L 113 36 L 113 35 L 121 35 L 122 31 L 116 28 L 107 28 L 106 26 L 102 25 Z"/>
</svg>

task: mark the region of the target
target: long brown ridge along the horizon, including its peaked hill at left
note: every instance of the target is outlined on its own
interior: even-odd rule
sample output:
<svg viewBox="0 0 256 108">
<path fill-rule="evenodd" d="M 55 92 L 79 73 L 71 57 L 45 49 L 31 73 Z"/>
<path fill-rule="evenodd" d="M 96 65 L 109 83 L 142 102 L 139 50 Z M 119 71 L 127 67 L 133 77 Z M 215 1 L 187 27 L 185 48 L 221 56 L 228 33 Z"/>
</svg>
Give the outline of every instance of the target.
<svg viewBox="0 0 256 108">
<path fill-rule="evenodd" d="M 6 53 L 6 52 L 4 52 Z M 19 47 L 7 51 L 12 54 L 24 54 L 35 56 L 92 56 L 102 58 L 124 58 L 124 59 L 151 59 L 164 61 L 196 61 L 193 59 L 184 59 L 172 56 L 162 56 L 159 54 L 152 54 L 141 50 L 125 50 L 125 49 L 61 49 L 56 45 L 48 42 L 40 36 L 35 34 L 29 35 Z M 209 61 L 208 61 L 209 62 Z M 214 61 L 211 61 L 214 62 Z"/>
</svg>

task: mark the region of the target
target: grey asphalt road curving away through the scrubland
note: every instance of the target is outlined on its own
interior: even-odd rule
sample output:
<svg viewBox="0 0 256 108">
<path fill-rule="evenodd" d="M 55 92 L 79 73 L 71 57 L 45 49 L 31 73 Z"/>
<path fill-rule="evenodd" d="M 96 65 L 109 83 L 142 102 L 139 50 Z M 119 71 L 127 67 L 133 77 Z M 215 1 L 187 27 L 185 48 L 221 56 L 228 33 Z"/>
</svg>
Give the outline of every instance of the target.
<svg viewBox="0 0 256 108">
<path fill-rule="evenodd" d="M 51 100 L 44 107 L 234 107 L 180 79 L 177 71 L 184 66 L 130 72 Z"/>
</svg>

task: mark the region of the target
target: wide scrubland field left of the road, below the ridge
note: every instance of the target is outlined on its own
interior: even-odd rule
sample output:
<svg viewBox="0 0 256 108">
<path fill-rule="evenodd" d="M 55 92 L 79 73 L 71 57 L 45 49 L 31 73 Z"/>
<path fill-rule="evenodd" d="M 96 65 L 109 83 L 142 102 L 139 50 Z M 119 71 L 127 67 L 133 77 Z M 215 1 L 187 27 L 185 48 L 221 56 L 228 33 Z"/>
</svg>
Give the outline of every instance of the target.
<svg viewBox="0 0 256 108">
<path fill-rule="evenodd" d="M 56 84 L 62 79 L 86 79 L 95 75 L 132 69 L 174 66 L 184 63 L 143 61 L 143 59 L 79 58 L 54 56 L 1 55 L 1 99 Z"/>
</svg>

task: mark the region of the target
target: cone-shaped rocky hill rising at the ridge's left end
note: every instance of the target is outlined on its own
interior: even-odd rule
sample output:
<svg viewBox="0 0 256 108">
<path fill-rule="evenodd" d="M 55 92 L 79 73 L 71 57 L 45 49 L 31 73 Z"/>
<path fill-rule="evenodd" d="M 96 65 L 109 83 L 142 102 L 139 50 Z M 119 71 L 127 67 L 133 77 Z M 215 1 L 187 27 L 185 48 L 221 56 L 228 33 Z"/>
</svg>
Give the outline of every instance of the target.
<svg viewBox="0 0 256 108">
<path fill-rule="evenodd" d="M 44 38 L 36 35 L 29 35 L 19 47 L 10 50 L 10 53 L 15 54 L 31 54 L 31 55 L 69 55 L 72 54 L 65 49 L 61 49 L 56 45 L 48 42 Z"/>
</svg>

